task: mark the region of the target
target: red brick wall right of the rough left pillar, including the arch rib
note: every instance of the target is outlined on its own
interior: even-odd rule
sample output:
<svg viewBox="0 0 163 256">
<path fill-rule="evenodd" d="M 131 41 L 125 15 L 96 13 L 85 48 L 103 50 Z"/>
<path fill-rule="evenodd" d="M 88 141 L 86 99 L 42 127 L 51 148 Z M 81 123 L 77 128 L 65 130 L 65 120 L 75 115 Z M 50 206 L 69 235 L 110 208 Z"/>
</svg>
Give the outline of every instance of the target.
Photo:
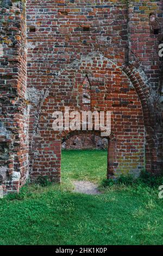
<svg viewBox="0 0 163 256">
<path fill-rule="evenodd" d="M 108 176 L 139 173 L 145 148 L 147 170 L 160 172 L 162 130 L 159 125 L 156 131 L 154 105 L 161 81 L 162 1 L 28 1 L 27 23 L 29 92 L 40 95 L 30 122 L 33 178 L 60 176 L 65 135 L 56 137 L 52 113 L 64 106 L 112 111 Z"/>
</svg>

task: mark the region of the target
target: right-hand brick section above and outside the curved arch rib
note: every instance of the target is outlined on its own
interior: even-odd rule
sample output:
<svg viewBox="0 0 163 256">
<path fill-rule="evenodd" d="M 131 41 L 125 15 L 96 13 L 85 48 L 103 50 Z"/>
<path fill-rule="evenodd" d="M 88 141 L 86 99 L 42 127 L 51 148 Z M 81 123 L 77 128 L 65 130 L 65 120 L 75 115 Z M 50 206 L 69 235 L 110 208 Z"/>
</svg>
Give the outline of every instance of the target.
<svg viewBox="0 0 163 256">
<path fill-rule="evenodd" d="M 137 92 L 142 102 L 146 127 L 147 167 L 153 172 L 162 172 L 163 73 L 159 44 L 163 40 L 163 1 L 129 1 L 128 21 L 129 64 L 124 71 L 135 84 L 137 83 Z M 141 78 L 143 81 L 140 83 Z"/>
</svg>

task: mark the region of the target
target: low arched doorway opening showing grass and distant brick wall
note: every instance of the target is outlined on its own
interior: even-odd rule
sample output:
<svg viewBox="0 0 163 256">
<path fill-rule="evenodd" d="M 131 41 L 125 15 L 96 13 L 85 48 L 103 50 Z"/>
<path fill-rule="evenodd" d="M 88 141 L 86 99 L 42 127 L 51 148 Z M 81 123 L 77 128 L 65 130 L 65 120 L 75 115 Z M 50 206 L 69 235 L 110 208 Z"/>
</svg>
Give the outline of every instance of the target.
<svg viewBox="0 0 163 256">
<path fill-rule="evenodd" d="M 108 139 L 78 133 L 62 139 L 61 179 L 100 183 L 107 177 Z"/>
</svg>

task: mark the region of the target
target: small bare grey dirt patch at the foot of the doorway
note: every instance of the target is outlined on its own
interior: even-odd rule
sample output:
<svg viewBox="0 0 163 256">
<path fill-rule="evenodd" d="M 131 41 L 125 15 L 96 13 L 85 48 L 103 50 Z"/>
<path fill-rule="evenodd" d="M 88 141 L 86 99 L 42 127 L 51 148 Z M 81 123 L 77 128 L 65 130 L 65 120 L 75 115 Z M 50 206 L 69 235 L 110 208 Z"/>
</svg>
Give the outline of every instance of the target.
<svg viewBox="0 0 163 256">
<path fill-rule="evenodd" d="M 90 181 L 74 181 L 73 185 L 75 186 L 74 192 L 84 193 L 84 194 L 100 194 L 98 191 L 97 185 L 93 184 Z"/>
</svg>

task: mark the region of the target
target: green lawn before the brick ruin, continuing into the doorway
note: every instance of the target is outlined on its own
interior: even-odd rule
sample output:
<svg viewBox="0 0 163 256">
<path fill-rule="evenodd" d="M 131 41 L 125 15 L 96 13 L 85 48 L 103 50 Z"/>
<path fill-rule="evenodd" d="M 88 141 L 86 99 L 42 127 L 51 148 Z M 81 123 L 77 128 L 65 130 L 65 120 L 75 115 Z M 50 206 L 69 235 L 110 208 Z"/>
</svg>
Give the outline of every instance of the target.
<svg viewBox="0 0 163 256">
<path fill-rule="evenodd" d="M 62 154 L 62 161 L 74 169 L 62 163 L 61 185 L 28 185 L 20 194 L 0 200 L 0 245 L 163 245 L 163 200 L 158 188 L 114 184 L 103 187 L 97 196 L 72 193 L 69 179 L 80 177 L 70 159 L 81 166 L 86 152 L 74 152 L 77 159 L 72 153 Z M 101 162 L 102 153 L 90 152 L 96 162 Z M 89 167 L 89 174 L 80 168 L 82 177 L 94 180 L 95 166 Z M 102 173 L 105 170 L 97 174 L 98 181 Z"/>
</svg>

